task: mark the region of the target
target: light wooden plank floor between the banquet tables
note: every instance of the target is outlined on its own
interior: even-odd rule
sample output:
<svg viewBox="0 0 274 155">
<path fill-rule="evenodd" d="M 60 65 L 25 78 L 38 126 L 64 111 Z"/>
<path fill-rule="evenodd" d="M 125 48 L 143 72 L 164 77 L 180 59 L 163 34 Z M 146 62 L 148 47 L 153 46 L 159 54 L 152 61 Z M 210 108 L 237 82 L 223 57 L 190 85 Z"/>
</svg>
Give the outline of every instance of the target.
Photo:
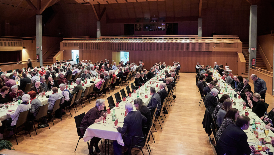
<svg viewBox="0 0 274 155">
<path fill-rule="evenodd" d="M 208 140 L 208 136 L 203 129 L 202 120 L 205 113 L 205 106 L 199 106 L 200 93 L 195 85 L 195 73 L 180 73 L 180 80 L 177 86 L 175 102 L 169 108 L 166 118 L 164 118 L 163 130 L 159 126 L 159 122 L 155 122 L 157 132 L 152 130 L 155 142 L 152 138 L 149 142 L 151 154 L 167 155 L 167 154 L 201 154 L 212 155 L 212 149 Z M 252 82 L 253 83 L 253 82 Z M 252 84 L 250 84 L 253 87 Z M 125 89 L 123 86 L 122 88 Z M 253 90 L 253 88 L 252 88 Z M 120 89 L 111 92 L 120 92 Z M 110 95 L 107 94 L 107 97 Z M 105 103 L 107 98 L 105 97 Z M 270 104 L 268 111 L 273 108 L 274 97 L 267 94 L 266 102 Z M 73 117 L 80 113 L 87 112 L 95 106 L 93 100 L 91 104 L 85 101 L 85 108 L 78 106 L 78 112 L 73 113 Z M 37 133 L 31 131 L 31 137 L 28 133 L 21 132 L 17 135 L 19 145 L 16 144 L 15 138 L 10 138 L 16 151 L 22 151 L 33 154 L 88 154 L 87 143 L 80 140 L 77 150 L 74 153 L 78 136 L 75 127 L 74 118 L 71 118 L 69 112 L 63 116 L 63 120 L 54 119 L 55 126 L 50 122 L 50 129 L 38 129 Z M 103 154 L 101 143 L 99 148 Z M 104 142 L 103 142 L 104 144 Z M 111 148 L 112 150 L 112 148 Z M 144 154 L 148 154 L 146 147 L 143 148 Z M 113 153 L 112 153 L 113 154 Z M 133 154 L 142 154 L 138 149 L 133 150 Z"/>
</svg>

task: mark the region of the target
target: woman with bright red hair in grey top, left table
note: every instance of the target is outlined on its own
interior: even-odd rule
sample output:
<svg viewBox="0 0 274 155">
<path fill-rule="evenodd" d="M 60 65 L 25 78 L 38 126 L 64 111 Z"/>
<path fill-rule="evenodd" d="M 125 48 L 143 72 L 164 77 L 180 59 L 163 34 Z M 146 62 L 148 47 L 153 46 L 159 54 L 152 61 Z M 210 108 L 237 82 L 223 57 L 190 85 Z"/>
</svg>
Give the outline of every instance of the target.
<svg viewBox="0 0 274 155">
<path fill-rule="evenodd" d="M 31 109 L 30 109 L 31 114 L 29 115 L 29 118 L 31 120 L 34 120 L 38 112 L 37 110 L 39 106 L 41 106 L 42 104 L 41 104 L 41 101 L 36 98 L 36 92 L 29 91 L 28 94 L 30 96 L 30 105 L 31 105 Z"/>
</svg>

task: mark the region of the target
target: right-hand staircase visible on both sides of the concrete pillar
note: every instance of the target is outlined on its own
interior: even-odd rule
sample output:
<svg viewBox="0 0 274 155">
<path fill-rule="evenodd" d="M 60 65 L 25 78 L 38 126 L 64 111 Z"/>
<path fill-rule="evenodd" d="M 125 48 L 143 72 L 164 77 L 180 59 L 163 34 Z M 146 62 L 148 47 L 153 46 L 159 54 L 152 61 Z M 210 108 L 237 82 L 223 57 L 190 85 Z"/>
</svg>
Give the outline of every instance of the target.
<svg viewBox="0 0 274 155">
<path fill-rule="evenodd" d="M 246 61 L 246 73 L 245 73 L 245 75 L 248 75 L 248 57 L 249 57 L 248 48 L 249 48 L 249 43 L 248 42 L 243 42 L 243 55 L 244 55 L 245 61 Z M 256 57 L 257 57 L 256 58 L 256 67 L 267 70 L 266 65 L 264 64 L 264 60 L 261 57 L 258 50 L 257 50 L 257 56 Z"/>
</svg>

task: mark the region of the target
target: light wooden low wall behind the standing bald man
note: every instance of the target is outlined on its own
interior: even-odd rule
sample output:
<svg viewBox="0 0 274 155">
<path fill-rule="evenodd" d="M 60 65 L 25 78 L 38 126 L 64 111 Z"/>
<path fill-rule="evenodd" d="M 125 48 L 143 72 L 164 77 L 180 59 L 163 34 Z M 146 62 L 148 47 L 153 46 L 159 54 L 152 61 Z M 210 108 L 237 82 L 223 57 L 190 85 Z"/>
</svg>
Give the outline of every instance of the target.
<svg viewBox="0 0 274 155">
<path fill-rule="evenodd" d="M 250 68 L 250 75 L 251 74 L 256 74 L 259 78 L 263 79 L 266 82 L 266 88 L 267 88 L 266 92 L 268 92 L 269 94 L 272 93 L 273 76 Z M 251 79 L 250 81 L 253 82 Z"/>
</svg>

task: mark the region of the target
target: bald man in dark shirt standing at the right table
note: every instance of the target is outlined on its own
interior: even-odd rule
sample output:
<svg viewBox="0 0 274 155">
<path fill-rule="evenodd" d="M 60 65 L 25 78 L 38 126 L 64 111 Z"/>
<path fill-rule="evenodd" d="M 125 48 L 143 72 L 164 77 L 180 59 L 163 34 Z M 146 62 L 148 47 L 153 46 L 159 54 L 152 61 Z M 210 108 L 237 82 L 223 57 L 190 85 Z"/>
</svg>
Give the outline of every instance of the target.
<svg viewBox="0 0 274 155">
<path fill-rule="evenodd" d="M 266 82 L 255 74 L 250 75 L 250 79 L 253 80 L 254 92 L 259 93 L 261 99 L 266 99 Z"/>
</svg>

